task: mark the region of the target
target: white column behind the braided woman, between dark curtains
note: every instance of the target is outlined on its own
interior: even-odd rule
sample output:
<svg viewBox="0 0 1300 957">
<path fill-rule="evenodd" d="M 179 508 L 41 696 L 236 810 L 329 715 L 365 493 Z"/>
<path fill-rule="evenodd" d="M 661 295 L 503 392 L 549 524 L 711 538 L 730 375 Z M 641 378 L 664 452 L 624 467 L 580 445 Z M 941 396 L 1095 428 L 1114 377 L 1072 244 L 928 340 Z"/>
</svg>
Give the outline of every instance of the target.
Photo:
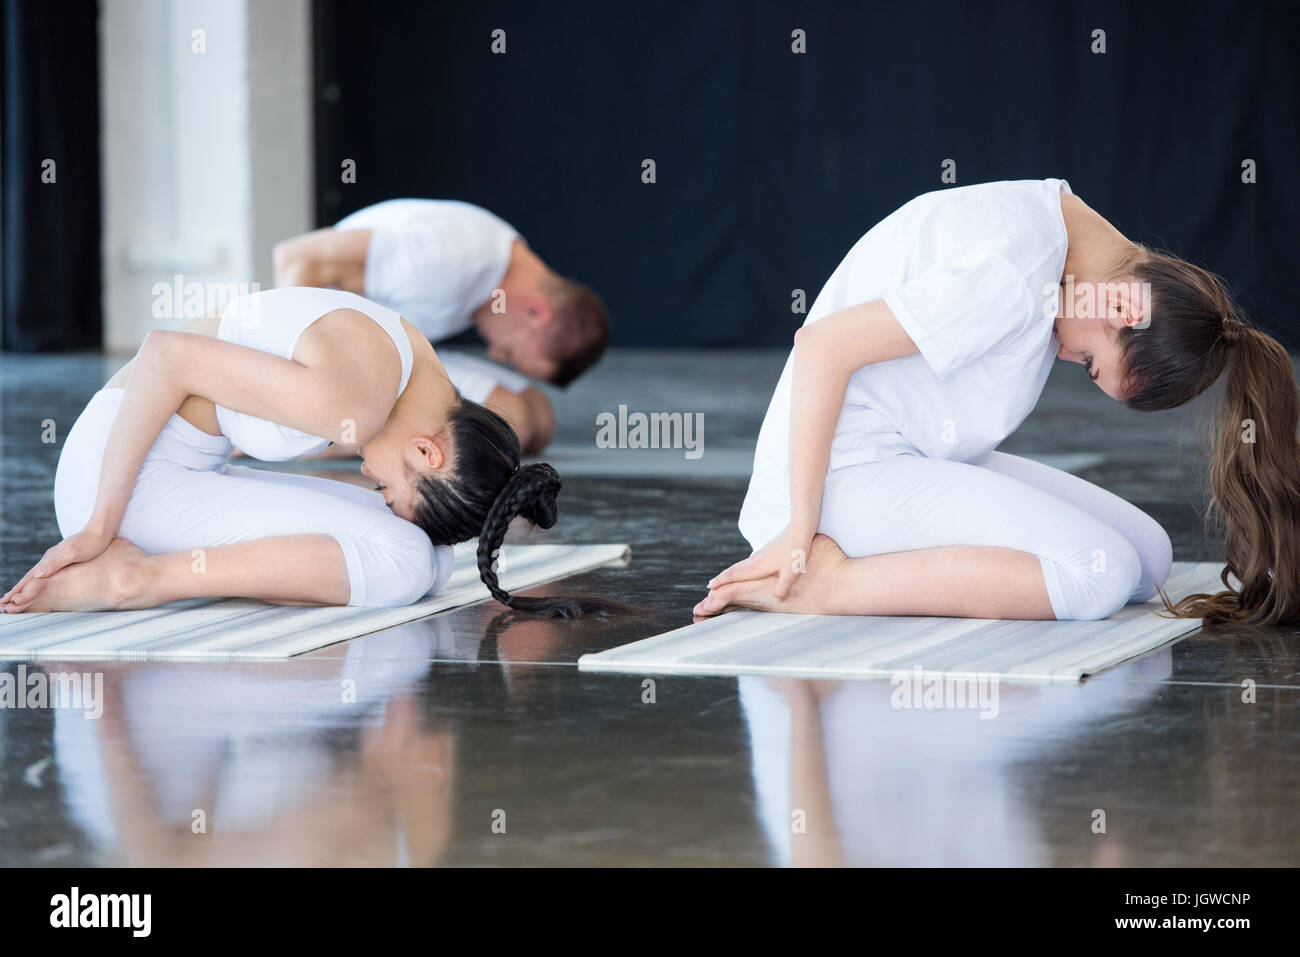
<svg viewBox="0 0 1300 957">
<path fill-rule="evenodd" d="M 308 0 L 101 0 L 105 347 L 272 286 L 312 226 Z"/>
</svg>

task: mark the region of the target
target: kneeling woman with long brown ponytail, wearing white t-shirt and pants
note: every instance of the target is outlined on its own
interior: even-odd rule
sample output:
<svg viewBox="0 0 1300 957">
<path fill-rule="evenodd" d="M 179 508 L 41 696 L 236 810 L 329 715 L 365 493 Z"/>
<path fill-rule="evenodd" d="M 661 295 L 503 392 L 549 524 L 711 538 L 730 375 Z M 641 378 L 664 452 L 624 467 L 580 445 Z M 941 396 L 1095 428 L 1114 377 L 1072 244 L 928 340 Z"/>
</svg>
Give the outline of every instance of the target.
<svg viewBox="0 0 1300 957">
<path fill-rule="evenodd" d="M 1226 371 L 1210 464 L 1225 590 L 1171 605 L 1169 536 L 1078 476 L 994 451 L 1053 360 L 1139 411 Z M 1063 179 L 930 192 L 849 251 L 794 337 L 740 529 L 696 606 L 1101 619 L 1161 596 L 1209 623 L 1300 622 L 1297 390 L 1214 276 L 1124 237 Z"/>
</svg>

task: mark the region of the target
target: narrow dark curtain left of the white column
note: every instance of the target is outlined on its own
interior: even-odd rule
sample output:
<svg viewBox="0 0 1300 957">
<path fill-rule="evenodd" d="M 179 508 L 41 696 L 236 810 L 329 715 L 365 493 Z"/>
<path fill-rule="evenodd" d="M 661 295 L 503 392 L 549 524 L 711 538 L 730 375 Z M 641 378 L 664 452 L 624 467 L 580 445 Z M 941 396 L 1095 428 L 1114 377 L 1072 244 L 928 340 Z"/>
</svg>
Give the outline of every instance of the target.
<svg viewBox="0 0 1300 957">
<path fill-rule="evenodd" d="M 3 31 L 0 348 L 98 348 L 96 3 L 4 0 Z"/>
</svg>

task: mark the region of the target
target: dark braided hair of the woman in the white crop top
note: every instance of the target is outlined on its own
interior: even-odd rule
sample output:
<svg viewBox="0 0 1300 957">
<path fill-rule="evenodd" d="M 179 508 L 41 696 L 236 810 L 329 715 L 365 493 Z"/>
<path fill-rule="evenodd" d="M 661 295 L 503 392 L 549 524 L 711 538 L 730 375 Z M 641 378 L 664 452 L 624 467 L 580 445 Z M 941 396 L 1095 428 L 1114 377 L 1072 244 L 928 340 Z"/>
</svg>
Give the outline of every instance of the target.
<svg viewBox="0 0 1300 957">
<path fill-rule="evenodd" d="M 495 559 L 516 515 L 540 528 L 555 524 L 560 477 L 545 463 L 520 465 L 519 437 L 504 419 L 460 398 L 447 417 L 456 464 L 447 477 L 417 475 L 415 524 L 434 545 L 478 536 L 478 577 L 502 605 L 547 618 L 607 614 L 610 606 L 577 598 L 512 596 L 497 579 Z"/>
</svg>

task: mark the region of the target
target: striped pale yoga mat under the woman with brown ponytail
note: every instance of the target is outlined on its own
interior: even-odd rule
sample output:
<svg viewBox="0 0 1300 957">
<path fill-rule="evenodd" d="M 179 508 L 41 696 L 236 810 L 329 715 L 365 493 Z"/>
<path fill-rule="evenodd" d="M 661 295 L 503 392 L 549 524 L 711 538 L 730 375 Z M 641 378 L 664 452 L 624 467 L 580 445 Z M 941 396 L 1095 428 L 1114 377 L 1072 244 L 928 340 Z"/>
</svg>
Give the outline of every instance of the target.
<svg viewBox="0 0 1300 957">
<path fill-rule="evenodd" d="M 1170 601 L 1223 589 L 1223 566 L 1175 562 Z M 676 631 L 578 658 L 581 671 L 638 675 L 790 675 L 797 677 L 993 676 L 1079 681 L 1201 627 L 1156 615 L 1160 598 L 1101 622 L 972 618 L 777 615 L 729 611 Z"/>
</svg>

